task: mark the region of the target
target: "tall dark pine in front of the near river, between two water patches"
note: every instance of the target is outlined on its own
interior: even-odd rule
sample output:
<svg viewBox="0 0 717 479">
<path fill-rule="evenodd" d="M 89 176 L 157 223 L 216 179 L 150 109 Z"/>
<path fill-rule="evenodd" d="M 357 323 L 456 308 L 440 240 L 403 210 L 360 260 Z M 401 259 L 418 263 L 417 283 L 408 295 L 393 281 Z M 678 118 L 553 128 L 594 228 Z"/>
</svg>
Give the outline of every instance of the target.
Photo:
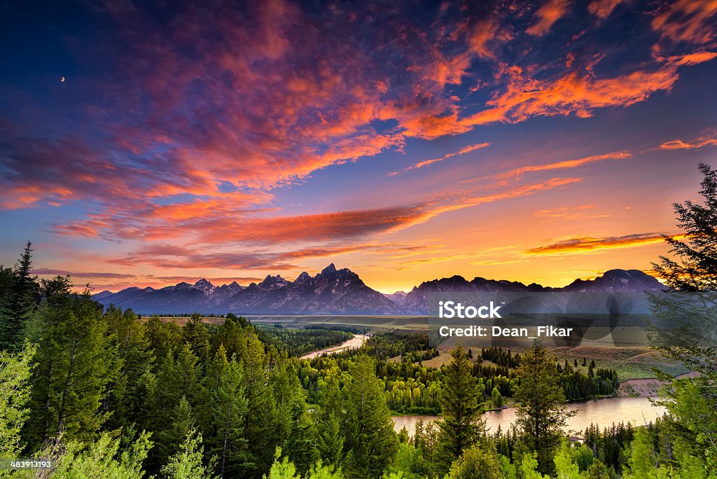
<svg viewBox="0 0 717 479">
<path fill-rule="evenodd" d="M 520 384 L 514 395 L 520 404 L 516 426 L 521 433 L 521 445 L 536 454 L 538 472 L 553 473 L 561 428 L 573 413 L 565 407 L 555 362 L 538 341 L 521 357 L 516 378 Z"/>
</svg>

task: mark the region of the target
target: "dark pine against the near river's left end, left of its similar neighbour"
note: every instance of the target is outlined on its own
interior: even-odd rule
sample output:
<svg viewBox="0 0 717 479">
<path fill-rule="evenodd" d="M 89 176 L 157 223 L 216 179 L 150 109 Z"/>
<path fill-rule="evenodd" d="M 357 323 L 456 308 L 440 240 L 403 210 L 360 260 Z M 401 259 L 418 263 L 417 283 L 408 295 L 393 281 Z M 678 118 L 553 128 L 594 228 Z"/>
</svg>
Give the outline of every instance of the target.
<svg viewBox="0 0 717 479">
<path fill-rule="evenodd" d="M 480 419 L 483 391 L 471 371 L 473 364 L 458 346 L 445 367 L 445 383 L 440 394 L 443 419 L 438 422 L 440 470 L 447 472 L 453 461 L 483 435 Z"/>
</svg>

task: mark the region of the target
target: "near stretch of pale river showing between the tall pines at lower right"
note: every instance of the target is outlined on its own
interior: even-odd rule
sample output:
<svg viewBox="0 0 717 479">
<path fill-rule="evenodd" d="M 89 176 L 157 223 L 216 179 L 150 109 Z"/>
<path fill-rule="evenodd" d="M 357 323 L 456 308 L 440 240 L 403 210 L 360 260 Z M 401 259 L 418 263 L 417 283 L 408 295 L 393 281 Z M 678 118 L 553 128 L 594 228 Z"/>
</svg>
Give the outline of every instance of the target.
<svg viewBox="0 0 717 479">
<path fill-rule="evenodd" d="M 602 430 L 612 423 L 631 422 L 633 426 L 642 426 L 647 422 L 654 421 L 665 413 L 665 408 L 650 403 L 649 397 L 607 397 L 604 399 L 592 399 L 585 402 L 574 402 L 568 404 L 568 409 L 578 413 L 568 419 L 566 431 L 584 432 L 591 423 L 597 424 Z M 438 416 L 394 416 L 394 430 L 399 432 L 406 426 L 409 435 L 416 432 L 416 422 L 423 418 L 423 422 L 435 421 Z M 516 420 L 516 408 L 500 409 L 489 411 L 483 414 L 485 426 L 490 432 L 498 430 L 498 425 L 505 431 Z"/>
</svg>

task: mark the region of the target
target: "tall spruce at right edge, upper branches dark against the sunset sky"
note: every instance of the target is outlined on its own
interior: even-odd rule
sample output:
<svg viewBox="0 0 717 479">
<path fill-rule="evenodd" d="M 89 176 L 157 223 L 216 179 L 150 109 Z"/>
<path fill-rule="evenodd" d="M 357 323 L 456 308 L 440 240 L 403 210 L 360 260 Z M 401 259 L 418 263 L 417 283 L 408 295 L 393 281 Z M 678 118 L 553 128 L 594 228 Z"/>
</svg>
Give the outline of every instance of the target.
<svg viewBox="0 0 717 479">
<path fill-rule="evenodd" d="M 696 373 L 673 380 L 664 404 L 717 470 L 717 171 L 703 163 L 699 170 L 702 204 L 673 205 L 684 236 L 665 236 L 673 257 L 653 265 L 673 291 L 650 295 L 656 321 L 649 337 L 652 347 Z"/>
</svg>

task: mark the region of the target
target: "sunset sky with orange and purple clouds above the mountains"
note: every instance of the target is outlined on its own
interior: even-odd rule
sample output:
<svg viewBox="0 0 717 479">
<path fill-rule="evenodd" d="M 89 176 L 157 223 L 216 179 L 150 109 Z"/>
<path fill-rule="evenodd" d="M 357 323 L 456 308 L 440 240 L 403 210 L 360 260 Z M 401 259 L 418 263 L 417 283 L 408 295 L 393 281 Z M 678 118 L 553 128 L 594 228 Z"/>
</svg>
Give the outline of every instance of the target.
<svg viewBox="0 0 717 479">
<path fill-rule="evenodd" d="M 714 0 L 53 3 L 0 0 L 0 263 L 98 291 L 650 272 L 717 166 Z"/>
</svg>

